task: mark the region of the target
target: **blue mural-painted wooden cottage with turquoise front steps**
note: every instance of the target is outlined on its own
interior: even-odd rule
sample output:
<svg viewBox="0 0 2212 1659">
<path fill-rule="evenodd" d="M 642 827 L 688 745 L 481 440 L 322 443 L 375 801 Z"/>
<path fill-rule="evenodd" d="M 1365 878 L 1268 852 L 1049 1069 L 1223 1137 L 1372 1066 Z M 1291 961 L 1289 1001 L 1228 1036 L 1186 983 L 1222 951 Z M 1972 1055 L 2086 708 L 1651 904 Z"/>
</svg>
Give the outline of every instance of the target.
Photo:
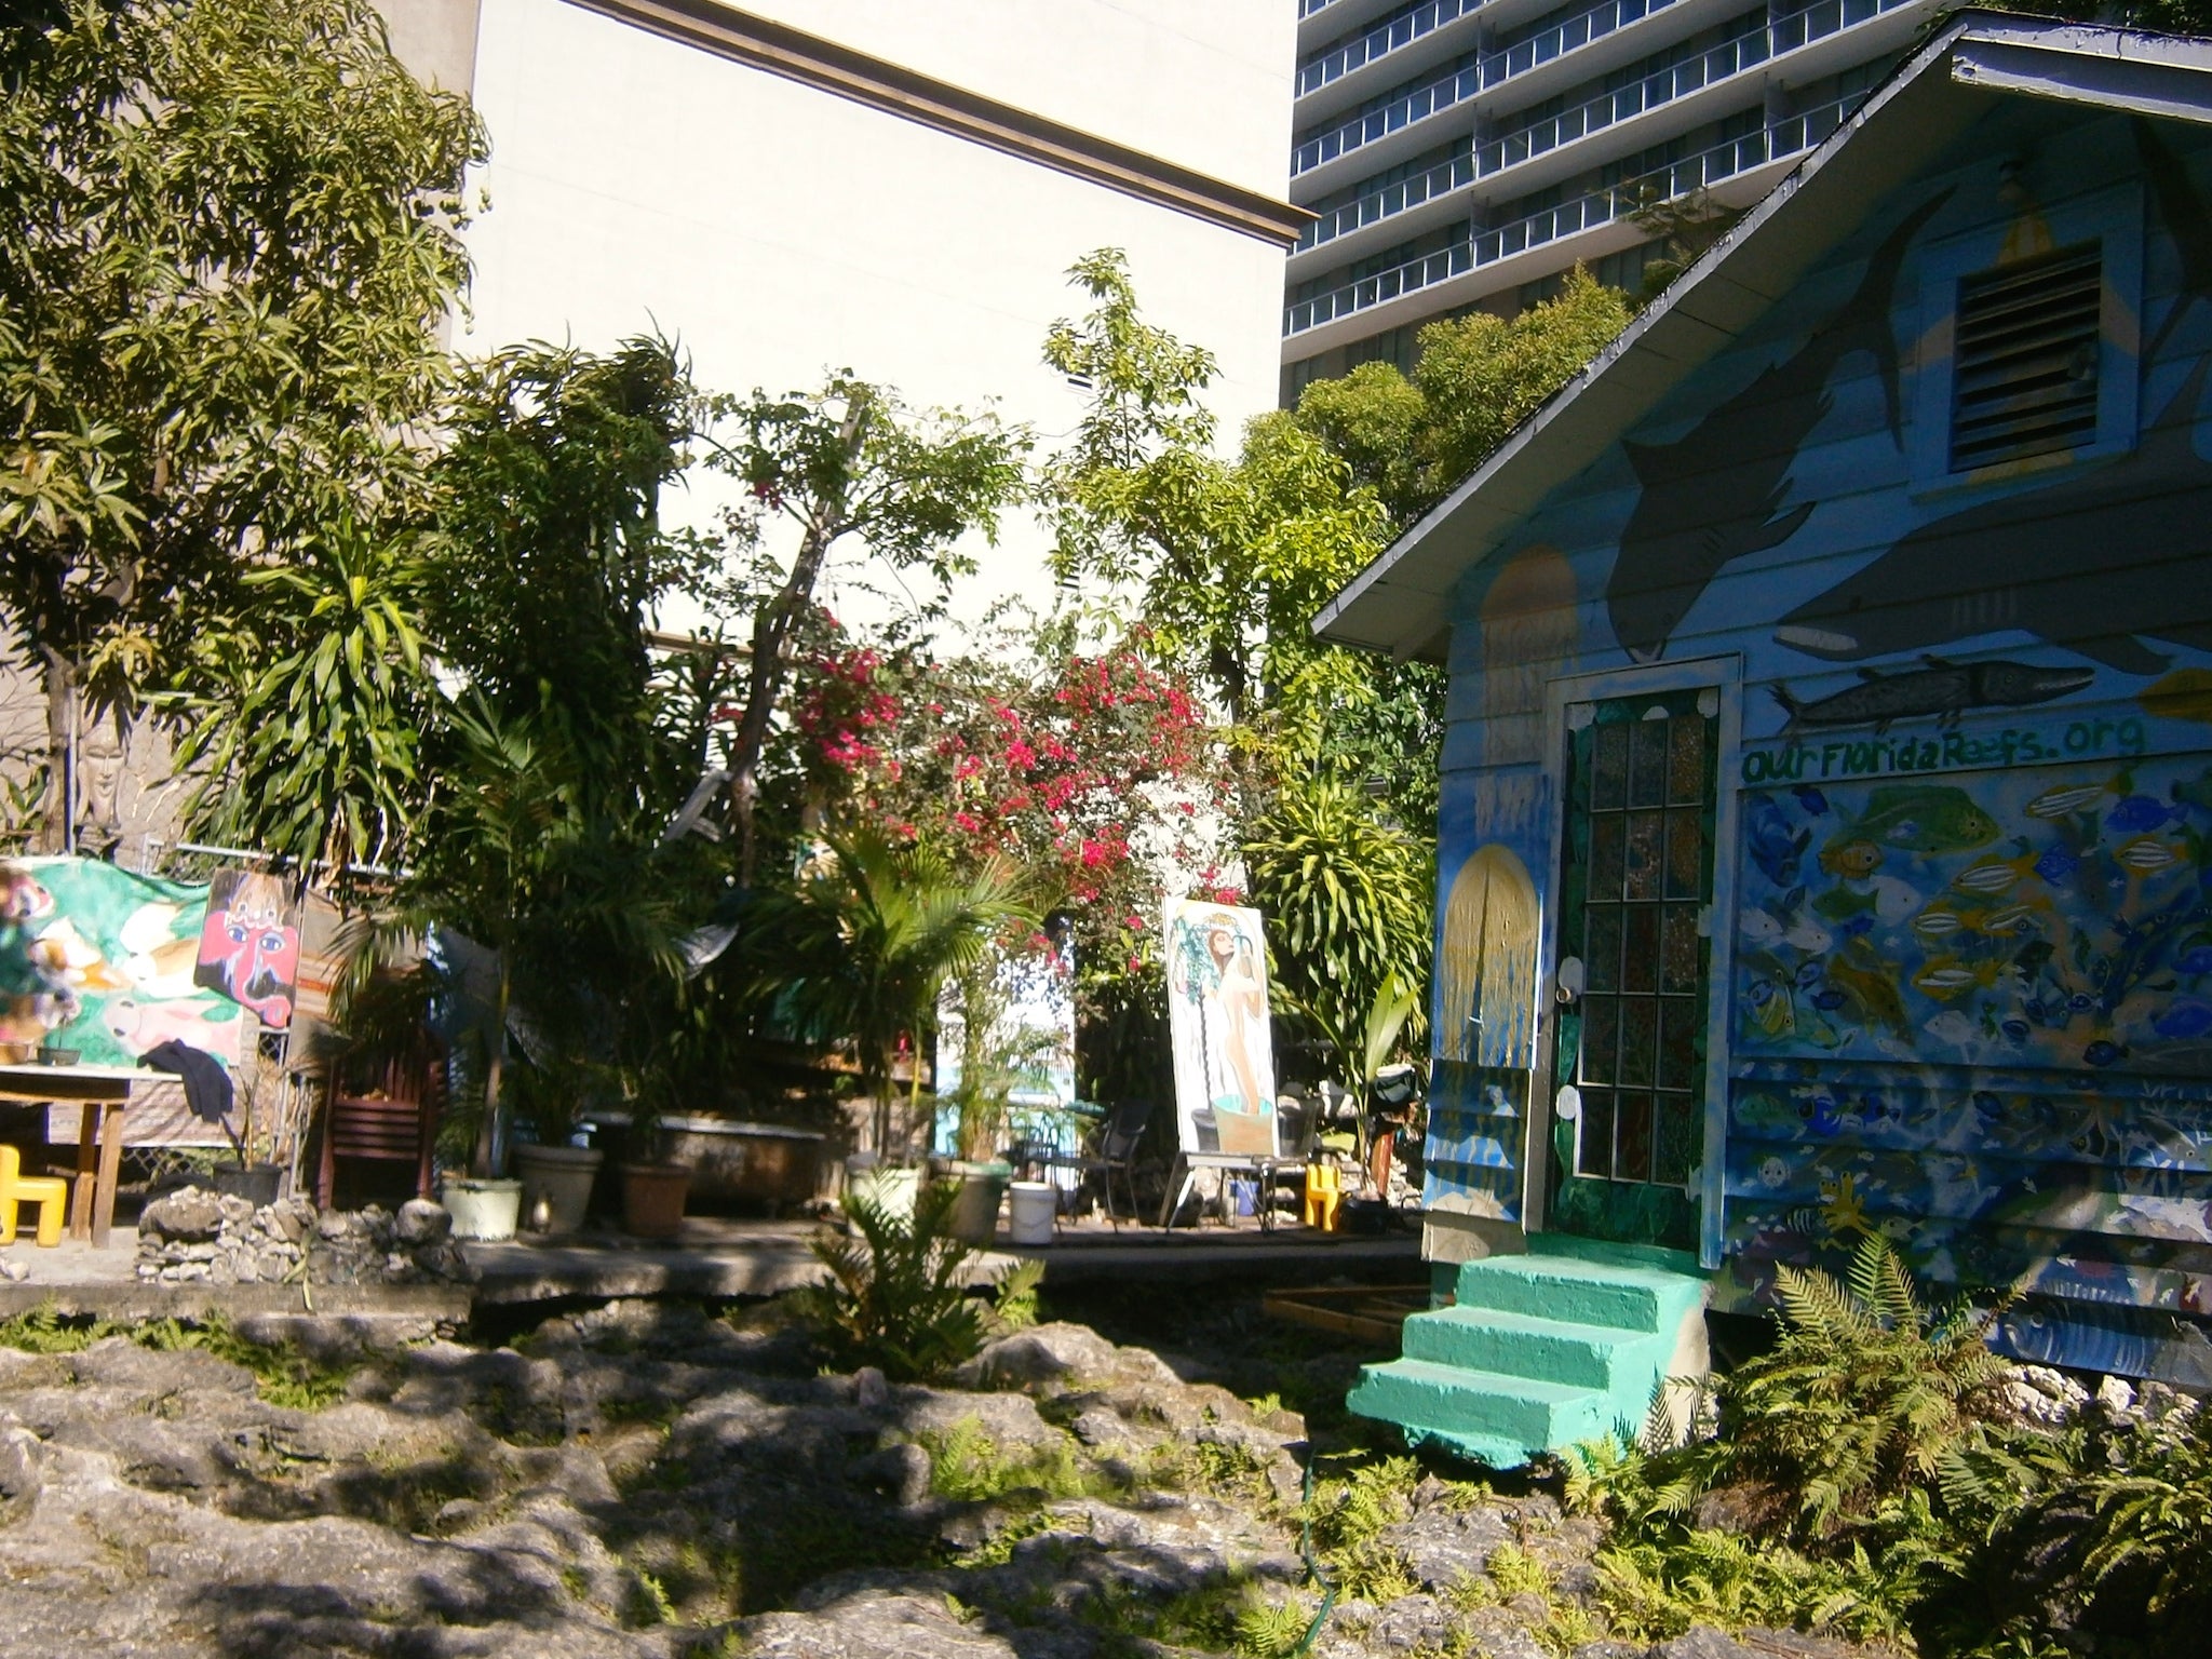
<svg viewBox="0 0 2212 1659">
<path fill-rule="evenodd" d="M 2208 365 L 2212 44 L 1958 13 L 1316 619 L 1451 670 L 1478 1265 L 1356 1409 L 1559 1444 L 1867 1232 L 2212 1385 Z"/>
</svg>

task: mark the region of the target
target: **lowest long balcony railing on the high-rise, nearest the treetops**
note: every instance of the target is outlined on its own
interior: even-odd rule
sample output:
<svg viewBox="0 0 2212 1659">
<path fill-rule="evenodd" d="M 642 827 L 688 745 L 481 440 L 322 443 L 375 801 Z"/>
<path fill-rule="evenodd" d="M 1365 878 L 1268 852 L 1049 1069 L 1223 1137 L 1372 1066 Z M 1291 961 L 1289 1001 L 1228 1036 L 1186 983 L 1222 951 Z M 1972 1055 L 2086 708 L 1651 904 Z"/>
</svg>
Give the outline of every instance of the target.
<svg viewBox="0 0 2212 1659">
<path fill-rule="evenodd" d="M 1467 241 L 1442 248 L 1440 252 L 1422 259 L 1409 259 L 1391 270 L 1376 272 L 1374 276 L 1363 276 L 1356 283 L 1332 288 L 1327 294 L 1298 301 L 1283 312 L 1283 336 L 1290 338 L 1294 334 L 1305 334 L 1307 330 L 1334 323 L 1340 316 L 1356 316 L 1365 310 L 1374 310 L 1376 305 L 1402 299 L 1405 294 L 1418 294 L 1422 288 L 1436 288 L 1453 276 L 1464 276 L 1471 270 L 1495 265 L 1500 259 L 1511 259 L 1513 254 L 1528 252 L 1531 248 L 1559 241 L 1562 237 L 1573 237 L 1582 230 L 1597 230 L 1615 219 L 1641 212 L 1652 201 L 1670 201 L 1674 197 L 1690 195 L 1692 190 L 1719 184 L 1721 179 L 1732 179 L 1739 173 L 1761 168 L 1767 161 L 1783 161 L 1792 155 L 1803 155 L 1827 139 L 1827 135 L 1843 124 L 1843 117 L 1856 104 L 1856 95 L 1820 104 L 1803 115 L 1776 122 L 1761 133 L 1750 133 L 1741 139 L 1732 139 L 1730 144 L 1717 144 L 1710 150 L 1699 150 L 1697 155 L 1683 157 L 1681 161 L 1659 168 L 1657 173 L 1644 173 L 1604 190 L 1593 190 L 1590 195 L 1577 197 L 1575 201 L 1566 201 L 1557 208 L 1511 219 L 1493 230 L 1480 230 Z"/>
</svg>

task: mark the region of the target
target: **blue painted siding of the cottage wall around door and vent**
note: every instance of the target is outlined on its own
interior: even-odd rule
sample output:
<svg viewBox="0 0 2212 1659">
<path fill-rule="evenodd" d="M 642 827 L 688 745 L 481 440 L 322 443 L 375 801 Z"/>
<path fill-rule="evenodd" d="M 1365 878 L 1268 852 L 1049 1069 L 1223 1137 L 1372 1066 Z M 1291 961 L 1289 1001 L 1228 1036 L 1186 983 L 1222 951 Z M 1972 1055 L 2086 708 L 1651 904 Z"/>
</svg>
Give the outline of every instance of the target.
<svg viewBox="0 0 2212 1659">
<path fill-rule="evenodd" d="M 1725 1000 L 1721 1305 L 1756 1305 L 1778 1263 L 1834 1263 L 1860 1230 L 1882 1230 L 1929 1281 L 2024 1279 L 2031 1294 L 2006 1316 L 2015 1352 L 2212 1383 L 2201 1323 L 2212 1314 L 2212 553 L 2185 533 L 2112 529 L 2194 524 L 2212 502 L 2212 462 L 2197 456 L 2212 449 L 2212 292 L 2190 303 L 2168 221 L 2174 206 L 2212 204 L 2212 146 L 2161 126 L 2185 175 L 2174 195 L 2168 173 L 2161 197 L 2124 117 L 2039 111 L 2037 122 L 2020 181 L 2008 186 L 2002 166 L 2022 155 L 2022 119 L 2002 108 L 1628 434 L 1661 451 L 1657 467 L 1646 453 L 1639 471 L 1615 445 L 1467 573 L 1451 606 L 1440 900 L 1478 847 L 1509 847 L 1544 909 L 1542 964 L 1555 960 L 1559 757 L 1544 748 L 1537 708 L 1553 681 L 1635 666 L 1606 595 L 1639 502 L 1672 489 L 1712 504 L 1710 522 L 1672 524 L 1670 571 L 1701 557 L 1683 553 L 1699 535 L 1745 533 L 1728 502 L 1761 498 L 1765 524 L 1809 507 L 1770 546 L 1683 582 L 1694 597 L 1659 657 L 1743 664 L 1743 739 L 1721 757 L 1739 823 L 1721 856 L 1734 860 L 1736 898 L 1714 922 L 1728 945 L 1717 971 L 1732 958 L 1714 987 Z M 1823 330 L 1865 292 L 1885 237 L 1938 199 L 1905 243 L 1887 303 L 1893 434 L 1871 349 L 1832 354 L 1812 392 L 1781 369 L 1827 349 Z M 1947 385 L 1947 283 L 1922 292 L 1922 270 L 1991 263 L 2008 234 L 2028 246 L 2037 221 L 2053 243 L 2075 239 L 2084 212 L 2117 243 L 2132 239 L 2108 259 L 2119 272 L 2106 341 L 2139 376 L 2139 409 L 2117 447 L 2106 434 L 2086 460 L 1955 480 L 1920 385 Z M 2146 345 L 2157 349 L 2141 367 Z M 1734 425 L 1708 425 L 1732 398 Z M 2152 465 L 2161 431 L 2179 458 L 2166 471 Z M 2081 489 L 2115 467 L 2132 469 L 2115 478 L 2141 476 L 2124 511 Z M 1960 515 L 2031 489 L 2048 491 L 2048 511 L 2035 509 L 2015 564 L 2002 535 L 1927 540 L 1933 524 L 1966 524 Z M 2066 551 L 2075 542 L 2093 551 L 2088 571 Z M 1913 560 L 1922 544 L 1927 557 Z M 1960 549 L 1980 560 L 1947 571 Z M 1911 644 L 1860 657 L 1776 637 L 1869 566 L 1893 575 L 1863 584 L 1865 606 L 1843 624 L 1825 617 L 1829 633 Z M 2013 586 L 1993 586 L 1991 571 Z M 2117 637 L 2068 644 L 2068 613 L 2084 608 L 2110 608 Z M 1929 657 L 1958 677 L 1936 679 Z M 2000 684 L 1995 666 L 2044 679 Z M 1785 732 L 1785 699 L 1805 710 L 1867 695 L 1876 681 L 1863 670 L 1927 675 L 1893 692 L 1927 712 L 1880 730 L 1801 714 Z M 2000 690 L 2020 697 L 1995 701 Z M 1938 708 L 1944 699 L 1966 706 Z M 2066 792 L 2084 790 L 2066 810 Z M 2152 964 L 2130 964 L 2130 951 Z M 1520 1060 L 1544 1095 L 1540 1048 Z M 1453 1208 L 1486 1192 L 1517 1217 L 1509 1188 L 1526 1144 L 1484 1135 L 1475 1082 L 1440 1088 L 1431 1155 L 1455 1161 L 1436 1197 Z M 1469 1148 L 1491 1161 L 1478 1168 Z"/>
</svg>

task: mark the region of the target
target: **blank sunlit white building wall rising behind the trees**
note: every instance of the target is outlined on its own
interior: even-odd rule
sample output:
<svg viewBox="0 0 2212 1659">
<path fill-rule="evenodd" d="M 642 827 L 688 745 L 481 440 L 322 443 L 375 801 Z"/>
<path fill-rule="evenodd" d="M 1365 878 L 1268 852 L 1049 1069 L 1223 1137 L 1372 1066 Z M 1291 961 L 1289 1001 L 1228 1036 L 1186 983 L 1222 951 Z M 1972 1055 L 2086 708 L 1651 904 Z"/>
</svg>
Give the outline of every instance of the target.
<svg viewBox="0 0 2212 1659">
<path fill-rule="evenodd" d="M 1283 188 L 1283 0 L 763 11 L 1248 188 Z M 1040 361 L 1051 321 L 1084 305 L 1064 270 L 1119 246 L 1146 314 L 1221 358 L 1225 442 L 1274 407 L 1272 243 L 557 0 L 482 0 L 476 102 L 493 142 L 491 210 L 469 232 L 462 349 L 604 347 L 657 323 L 710 387 L 781 392 L 852 367 L 918 405 L 995 398 L 1048 445 L 1079 409 Z M 1042 544 L 1035 526 L 1009 526 L 960 611 L 1000 593 L 1042 599 Z"/>
</svg>

